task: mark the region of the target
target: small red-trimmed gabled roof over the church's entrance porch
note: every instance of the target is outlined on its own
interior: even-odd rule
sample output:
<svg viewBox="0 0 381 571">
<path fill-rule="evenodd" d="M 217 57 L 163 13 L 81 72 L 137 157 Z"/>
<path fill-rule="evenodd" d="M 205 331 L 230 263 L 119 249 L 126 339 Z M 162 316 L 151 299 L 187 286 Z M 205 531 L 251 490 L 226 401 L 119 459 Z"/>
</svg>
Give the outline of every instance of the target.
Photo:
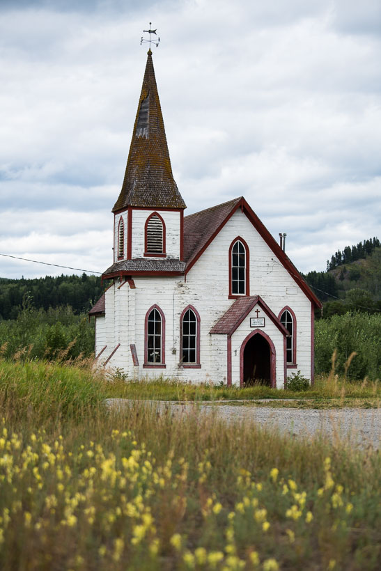
<svg viewBox="0 0 381 571">
<path fill-rule="evenodd" d="M 277 315 L 275 315 L 269 306 L 265 304 L 261 296 L 259 295 L 247 295 L 245 297 L 239 297 L 235 300 L 233 305 L 228 308 L 228 311 L 222 315 L 221 319 L 210 329 L 210 333 L 222 334 L 222 335 L 233 335 L 235 329 L 237 329 L 244 318 L 249 315 L 250 311 L 258 304 L 261 306 L 265 314 L 270 320 L 276 325 L 283 335 L 288 336 L 289 333 L 284 327 Z"/>
</svg>

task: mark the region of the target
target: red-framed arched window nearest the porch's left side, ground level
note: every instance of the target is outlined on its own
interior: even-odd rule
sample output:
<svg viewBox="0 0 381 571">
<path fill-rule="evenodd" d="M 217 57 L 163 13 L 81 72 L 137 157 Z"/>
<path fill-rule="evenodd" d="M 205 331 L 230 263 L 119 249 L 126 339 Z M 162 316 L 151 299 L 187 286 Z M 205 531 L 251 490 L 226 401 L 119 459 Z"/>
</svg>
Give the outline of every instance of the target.
<svg viewBox="0 0 381 571">
<path fill-rule="evenodd" d="M 180 365 L 199 368 L 200 365 L 200 315 L 187 306 L 180 317 Z"/>
</svg>

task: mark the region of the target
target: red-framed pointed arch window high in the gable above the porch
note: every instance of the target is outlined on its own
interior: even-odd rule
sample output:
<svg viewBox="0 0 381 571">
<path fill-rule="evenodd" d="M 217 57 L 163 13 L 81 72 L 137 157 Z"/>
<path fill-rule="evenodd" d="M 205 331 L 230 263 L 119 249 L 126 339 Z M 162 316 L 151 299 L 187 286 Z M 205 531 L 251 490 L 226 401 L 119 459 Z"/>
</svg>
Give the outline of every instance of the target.
<svg viewBox="0 0 381 571">
<path fill-rule="evenodd" d="M 238 236 L 229 248 L 229 297 L 250 295 L 249 291 L 249 247 Z"/>
</svg>

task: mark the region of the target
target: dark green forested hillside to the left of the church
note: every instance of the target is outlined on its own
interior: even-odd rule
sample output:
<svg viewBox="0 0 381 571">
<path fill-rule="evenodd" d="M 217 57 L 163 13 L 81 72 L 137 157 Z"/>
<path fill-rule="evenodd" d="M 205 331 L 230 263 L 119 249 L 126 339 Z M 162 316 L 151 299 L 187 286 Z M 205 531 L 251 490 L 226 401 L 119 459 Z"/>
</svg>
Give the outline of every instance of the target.
<svg viewBox="0 0 381 571">
<path fill-rule="evenodd" d="M 0 320 L 16 319 L 23 304 L 45 310 L 70 306 L 78 315 L 88 311 L 101 293 L 100 277 L 87 274 L 38 279 L 0 278 Z"/>
</svg>

